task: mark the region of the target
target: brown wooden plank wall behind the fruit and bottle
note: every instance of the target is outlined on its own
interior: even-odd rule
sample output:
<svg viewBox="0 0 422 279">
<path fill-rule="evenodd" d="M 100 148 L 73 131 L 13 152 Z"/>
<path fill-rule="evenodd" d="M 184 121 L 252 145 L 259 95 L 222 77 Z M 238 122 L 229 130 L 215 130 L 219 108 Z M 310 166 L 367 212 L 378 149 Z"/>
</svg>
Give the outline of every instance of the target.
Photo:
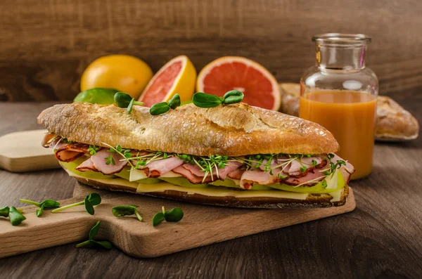
<svg viewBox="0 0 422 279">
<path fill-rule="evenodd" d="M 421 14 L 420 0 L 2 0 L 0 100 L 70 100 L 84 68 L 111 53 L 154 72 L 181 54 L 197 70 L 245 56 L 298 82 L 323 32 L 372 36 L 381 93 L 406 94 L 422 89 Z"/>
</svg>

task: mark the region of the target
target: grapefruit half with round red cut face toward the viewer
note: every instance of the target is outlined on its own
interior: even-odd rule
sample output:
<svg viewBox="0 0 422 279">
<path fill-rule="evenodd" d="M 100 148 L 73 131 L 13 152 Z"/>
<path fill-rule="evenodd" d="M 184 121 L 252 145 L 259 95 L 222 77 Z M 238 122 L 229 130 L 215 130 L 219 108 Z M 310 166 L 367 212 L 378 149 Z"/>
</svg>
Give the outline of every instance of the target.
<svg viewBox="0 0 422 279">
<path fill-rule="evenodd" d="M 231 90 L 245 94 L 244 103 L 279 110 L 279 84 L 262 65 L 244 57 L 224 56 L 206 65 L 198 74 L 196 90 L 222 97 Z"/>
</svg>

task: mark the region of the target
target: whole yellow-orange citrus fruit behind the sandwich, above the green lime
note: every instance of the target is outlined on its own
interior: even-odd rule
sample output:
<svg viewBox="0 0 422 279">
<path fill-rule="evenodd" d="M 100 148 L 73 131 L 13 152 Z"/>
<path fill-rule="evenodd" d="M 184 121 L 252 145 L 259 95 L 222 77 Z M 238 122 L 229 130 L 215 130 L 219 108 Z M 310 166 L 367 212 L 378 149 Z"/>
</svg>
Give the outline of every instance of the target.
<svg viewBox="0 0 422 279">
<path fill-rule="evenodd" d="M 152 77 L 151 68 L 139 58 L 121 54 L 103 56 L 84 70 L 81 91 L 96 87 L 113 88 L 136 99 Z"/>
</svg>

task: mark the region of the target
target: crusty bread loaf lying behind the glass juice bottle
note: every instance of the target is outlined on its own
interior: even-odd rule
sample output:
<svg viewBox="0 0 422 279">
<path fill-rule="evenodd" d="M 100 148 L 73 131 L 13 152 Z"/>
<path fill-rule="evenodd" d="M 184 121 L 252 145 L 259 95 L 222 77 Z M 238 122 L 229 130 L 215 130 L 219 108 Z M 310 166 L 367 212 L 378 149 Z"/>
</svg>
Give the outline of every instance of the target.
<svg viewBox="0 0 422 279">
<path fill-rule="evenodd" d="M 299 115 L 300 84 L 280 84 L 280 111 L 288 115 Z M 406 141 L 419 135 L 418 120 L 401 105 L 387 96 L 378 96 L 376 103 L 377 141 Z"/>
</svg>

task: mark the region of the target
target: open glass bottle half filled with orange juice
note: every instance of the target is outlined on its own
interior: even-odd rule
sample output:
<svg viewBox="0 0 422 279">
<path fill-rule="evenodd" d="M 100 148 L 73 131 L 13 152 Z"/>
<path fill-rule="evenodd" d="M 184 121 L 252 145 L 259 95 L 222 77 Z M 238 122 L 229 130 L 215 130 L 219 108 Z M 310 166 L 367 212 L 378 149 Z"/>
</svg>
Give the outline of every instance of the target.
<svg viewBox="0 0 422 279">
<path fill-rule="evenodd" d="M 354 165 L 352 179 L 372 171 L 378 79 L 365 67 L 363 34 L 321 34 L 316 64 L 300 79 L 299 116 L 324 126 L 340 144 L 337 153 Z"/>
</svg>

